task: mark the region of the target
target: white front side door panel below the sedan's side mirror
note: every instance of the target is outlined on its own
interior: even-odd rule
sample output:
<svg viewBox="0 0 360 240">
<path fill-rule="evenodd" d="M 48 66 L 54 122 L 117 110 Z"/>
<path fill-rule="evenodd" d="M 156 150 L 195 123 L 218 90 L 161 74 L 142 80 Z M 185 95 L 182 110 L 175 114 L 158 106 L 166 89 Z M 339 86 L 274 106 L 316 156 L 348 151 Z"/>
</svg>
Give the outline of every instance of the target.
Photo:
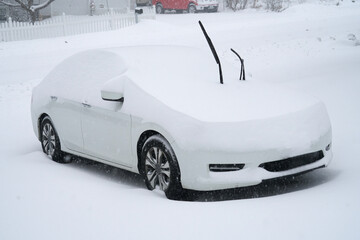
<svg viewBox="0 0 360 240">
<path fill-rule="evenodd" d="M 131 166 L 131 117 L 123 103 L 85 100 L 82 133 L 84 152 L 123 166 Z"/>
</svg>

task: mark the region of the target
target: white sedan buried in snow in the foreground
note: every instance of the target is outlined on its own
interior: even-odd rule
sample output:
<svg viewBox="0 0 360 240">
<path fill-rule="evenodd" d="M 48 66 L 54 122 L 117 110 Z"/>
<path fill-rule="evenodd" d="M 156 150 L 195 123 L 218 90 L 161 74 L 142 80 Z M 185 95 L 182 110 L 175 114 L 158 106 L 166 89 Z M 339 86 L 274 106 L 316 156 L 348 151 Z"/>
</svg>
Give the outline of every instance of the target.
<svg viewBox="0 0 360 240">
<path fill-rule="evenodd" d="M 331 125 L 322 102 L 239 81 L 226 63 L 219 84 L 217 69 L 211 53 L 190 47 L 75 54 L 33 89 L 35 134 L 57 162 L 72 154 L 140 173 L 150 190 L 159 186 L 169 198 L 329 164 Z"/>
</svg>

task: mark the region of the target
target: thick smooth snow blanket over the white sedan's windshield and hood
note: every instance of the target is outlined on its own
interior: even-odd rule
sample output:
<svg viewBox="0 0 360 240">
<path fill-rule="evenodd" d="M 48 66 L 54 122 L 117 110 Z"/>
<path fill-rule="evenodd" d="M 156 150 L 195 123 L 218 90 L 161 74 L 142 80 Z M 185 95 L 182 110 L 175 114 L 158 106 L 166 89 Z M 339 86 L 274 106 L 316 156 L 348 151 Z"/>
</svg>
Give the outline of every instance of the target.
<svg viewBox="0 0 360 240">
<path fill-rule="evenodd" d="M 239 69 L 225 61 L 221 85 L 211 52 L 195 48 L 144 46 L 110 51 L 124 59 L 128 69 L 124 74 L 131 81 L 168 107 L 200 121 L 273 118 L 319 103 L 290 89 L 240 81 Z"/>
</svg>

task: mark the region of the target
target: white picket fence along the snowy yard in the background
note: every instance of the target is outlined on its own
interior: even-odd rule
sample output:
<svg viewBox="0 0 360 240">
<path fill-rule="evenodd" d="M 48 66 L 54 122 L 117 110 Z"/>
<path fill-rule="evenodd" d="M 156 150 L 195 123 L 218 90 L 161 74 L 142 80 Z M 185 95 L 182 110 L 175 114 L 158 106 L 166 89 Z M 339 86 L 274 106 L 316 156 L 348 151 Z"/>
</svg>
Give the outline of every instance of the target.
<svg viewBox="0 0 360 240">
<path fill-rule="evenodd" d="M 144 8 L 138 15 L 141 19 L 155 19 L 154 8 Z M 62 16 L 46 19 L 34 24 L 26 22 L 0 23 L 0 41 L 19 41 L 36 38 L 51 38 L 92 32 L 117 30 L 136 23 L 135 13 L 116 13 L 110 11 L 98 16 Z"/>
</svg>

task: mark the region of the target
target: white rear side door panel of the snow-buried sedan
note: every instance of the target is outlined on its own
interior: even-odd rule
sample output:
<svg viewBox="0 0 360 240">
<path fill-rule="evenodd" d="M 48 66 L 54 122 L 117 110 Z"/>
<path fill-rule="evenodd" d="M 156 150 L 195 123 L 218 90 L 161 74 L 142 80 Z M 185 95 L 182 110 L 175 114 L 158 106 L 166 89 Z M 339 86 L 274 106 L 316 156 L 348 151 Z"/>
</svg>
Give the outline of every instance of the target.
<svg viewBox="0 0 360 240">
<path fill-rule="evenodd" d="M 70 150 L 82 152 L 81 116 L 83 107 L 81 103 L 54 95 L 50 96 L 50 98 L 50 117 L 62 140 L 62 144 Z"/>
</svg>

